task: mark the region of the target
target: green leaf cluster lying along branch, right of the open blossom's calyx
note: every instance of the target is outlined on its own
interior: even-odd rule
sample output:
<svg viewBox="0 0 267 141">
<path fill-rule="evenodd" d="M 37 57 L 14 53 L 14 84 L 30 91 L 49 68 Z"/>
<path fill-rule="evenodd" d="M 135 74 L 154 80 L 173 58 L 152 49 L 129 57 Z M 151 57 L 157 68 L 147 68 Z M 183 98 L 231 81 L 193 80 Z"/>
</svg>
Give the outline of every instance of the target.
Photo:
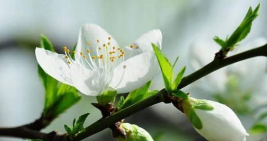
<svg viewBox="0 0 267 141">
<path fill-rule="evenodd" d="M 123 101 L 123 103 L 118 104 L 117 109 L 121 110 L 121 109 L 127 108 L 130 105 L 135 104 L 157 93 L 158 90 L 149 91 L 151 84 L 152 84 L 152 81 L 149 81 L 141 88 L 131 91 L 125 100 L 120 100 L 120 101 Z"/>
</svg>

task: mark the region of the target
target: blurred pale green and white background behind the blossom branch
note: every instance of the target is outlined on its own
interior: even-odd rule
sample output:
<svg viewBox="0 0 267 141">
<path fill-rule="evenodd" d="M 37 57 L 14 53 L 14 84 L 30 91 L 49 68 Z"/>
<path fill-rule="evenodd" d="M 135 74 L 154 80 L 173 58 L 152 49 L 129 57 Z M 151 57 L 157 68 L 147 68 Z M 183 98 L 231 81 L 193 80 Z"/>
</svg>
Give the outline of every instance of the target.
<svg viewBox="0 0 267 141">
<path fill-rule="evenodd" d="M 180 56 L 176 70 L 186 65 L 186 74 L 189 74 L 196 69 L 192 65 L 192 58 L 196 55 L 192 53 L 191 47 L 201 48 L 207 44 L 219 50 L 219 46 L 213 42 L 213 37 L 218 35 L 225 38 L 231 34 L 242 21 L 249 6 L 256 7 L 258 3 L 261 3 L 259 17 L 253 23 L 251 33 L 240 46 L 258 37 L 261 37 L 261 40 L 267 38 L 267 1 L 1 0 L 0 127 L 27 124 L 41 115 L 44 90 L 37 74 L 34 55 L 34 48 L 39 45 L 40 34 L 45 34 L 60 53 L 62 46 L 71 47 L 75 44 L 79 28 L 83 23 L 100 25 L 115 37 L 121 46 L 130 44 L 149 30 L 160 29 L 163 34 L 163 52 L 171 61 Z M 202 54 L 198 55 L 203 58 L 211 56 L 209 57 L 211 61 L 213 54 L 208 53 L 210 52 L 205 51 L 203 47 Z M 255 62 L 262 63 L 254 64 Z M 236 71 L 239 66 L 245 66 L 245 73 Z M 242 63 L 239 66 L 233 65 L 233 69 L 223 70 L 224 75 L 218 73 L 214 75 L 218 77 L 213 77 L 215 78 L 213 80 L 207 76 L 206 79 L 184 90 L 197 98 L 217 100 L 227 104 L 238 114 L 247 131 L 250 131 L 257 122 L 259 112 L 264 113 L 267 104 L 263 99 L 266 97 L 264 94 L 267 94 L 266 58 L 258 57 L 252 63 Z M 256 75 L 252 77 L 253 72 Z M 163 88 L 160 73 L 155 78 L 152 88 Z M 244 91 L 250 92 L 249 98 L 247 95 L 244 96 Z M 234 95 L 238 95 L 235 100 L 231 99 Z M 101 113 L 90 105 L 95 101 L 94 97 L 84 96 L 78 104 L 54 120 L 43 131 L 64 132 L 64 124 L 71 124 L 74 117 L 85 112 L 91 113 L 85 125 L 93 123 L 101 117 Z M 251 110 L 252 107 L 258 109 L 254 111 Z M 196 133 L 186 117 L 170 104 L 162 103 L 149 107 L 128 117 L 126 122 L 143 127 L 157 140 L 205 140 Z M 259 133 L 251 134 L 249 139 L 264 140 L 265 131 L 266 129 L 262 129 Z M 0 137 L 0 140 L 22 139 Z M 106 129 L 85 140 L 113 139 L 110 130 Z"/>
</svg>

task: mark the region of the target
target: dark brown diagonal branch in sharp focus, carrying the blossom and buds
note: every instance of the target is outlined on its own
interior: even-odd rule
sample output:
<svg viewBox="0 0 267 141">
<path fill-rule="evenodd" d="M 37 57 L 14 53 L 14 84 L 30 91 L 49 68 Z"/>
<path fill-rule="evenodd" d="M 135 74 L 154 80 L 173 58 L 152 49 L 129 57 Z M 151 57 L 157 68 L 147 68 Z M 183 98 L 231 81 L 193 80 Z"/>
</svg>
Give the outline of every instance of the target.
<svg viewBox="0 0 267 141">
<path fill-rule="evenodd" d="M 256 56 L 267 57 L 267 44 L 265 44 L 259 48 L 256 48 L 256 49 L 252 49 L 249 51 L 239 53 L 237 55 L 233 55 L 231 57 L 226 57 L 222 60 L 215 57 L 215 59 L 211 63 L 200 68 L 195 73 L 184 77 L 182 79 L 180 85 L 178 86 L 178 88 L 181 89 L 181 88 L 187 86 L 188 84 L 195 82 L 196 80 L 208 75 L 209 73 L 214 72 L 215 70 L 217 70 L 221 67 L 236 63 L 236 62 L 241 61 L 241 60 L 256 57 Z M 140 110 L 143 110 L 143 109 L 145 109 L 151 105 L 154 105 L 154 104 L 157 104 L 160 102 L 169 103 L 166 95 L 167 95 L 167 92 L 165 91 L 165 89 L 162 89 L 161 91 L 156 93 L 154 96 L 151 96 L 151 97 L 149 97 L 145 100 L 142 100 L 138 103 L 135 103 L 135 104 L 133 104 L 133 105 L 131 105 L 131 106 L 129 106 L 129 107 L 113 114 L 113 115 L 106 117 L 105 119 L 100 119 L 99 121 L 94 122 L 90 126 L 86 127 L 85 128 L 86 131 L 79 134 L 77 137 L 74 138 L 74 140 L 82 140 L 82 139 L 84 139 L 90 135 L 96 134 L 96 133 L 108 128 L 112 124 L 115 124 L 116 122 L 125 119 L 126 117 L 130 116 L 131 114 L 136 113 Z"/>
</svg>

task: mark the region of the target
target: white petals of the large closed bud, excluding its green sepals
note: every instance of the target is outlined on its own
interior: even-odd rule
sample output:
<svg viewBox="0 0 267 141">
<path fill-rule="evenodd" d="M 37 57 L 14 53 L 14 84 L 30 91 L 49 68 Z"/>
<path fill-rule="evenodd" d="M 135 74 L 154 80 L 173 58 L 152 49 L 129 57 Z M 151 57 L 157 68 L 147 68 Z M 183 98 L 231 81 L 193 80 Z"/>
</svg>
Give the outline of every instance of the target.
<svg viewBox="0 0 267 141">
<path fill-rule="evenodd" d="M 237 115 L 229 107 L 214 101 L 208 101 L 213 110 L 195 109 L 202 122 L 202 129 L 196 129 L 207 140 L 245 140 L 249 134 L 244 129 Z"/>
</svg>

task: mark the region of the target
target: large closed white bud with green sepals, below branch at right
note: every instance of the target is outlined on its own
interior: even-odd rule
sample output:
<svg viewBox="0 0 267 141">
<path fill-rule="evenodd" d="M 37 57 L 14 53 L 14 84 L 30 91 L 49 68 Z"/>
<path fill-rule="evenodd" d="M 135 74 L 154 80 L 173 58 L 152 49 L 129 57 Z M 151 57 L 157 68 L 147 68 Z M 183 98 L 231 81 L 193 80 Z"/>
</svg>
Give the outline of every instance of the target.
<svg viewBox="0 0 267 141">
<path fill-rule="evenodd" d="M 224 104 L 189 98 L 182 107 L 196 131 L 207 140 L 244 141 L 249 135 L 234 111 Z"/>
</svg>

